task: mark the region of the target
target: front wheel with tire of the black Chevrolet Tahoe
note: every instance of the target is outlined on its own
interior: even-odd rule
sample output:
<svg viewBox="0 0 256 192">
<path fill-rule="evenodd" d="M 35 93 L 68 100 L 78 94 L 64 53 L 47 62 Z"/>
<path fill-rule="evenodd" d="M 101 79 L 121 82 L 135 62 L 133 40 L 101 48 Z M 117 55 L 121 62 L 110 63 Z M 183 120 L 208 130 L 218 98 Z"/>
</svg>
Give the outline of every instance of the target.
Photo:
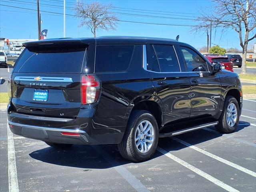
<svg viewBox="0 0 256 192">
<path fill-rule="evenodd" d="M 231 125 L 230 125 L 228 122 L 228 117 L 227 117 L 229 115 L 227 113 L 228 113 L 228 107 L 230 106 L 230 108 L 231 108 L 233 106 L 232 104 L 234 104 L 236 107 L 236 118 L 235 119 L 232 118 L 232 119 L 234 119 L 235 123 L 231 122 Z M 234 113 L 232 113 L 232 115 L 233 114 Z M 222 114 L 220 115 L 220 118 L 219 118 L 219 123 L 218 123 L 218 125 L 215 126 L 216 130 L 219 132 L 222 132 L 222 133 L 232 133 L 232 132 L 236 131 L 236 128 L 237 128 L 238 122 L 239 122 L 239 117 L 240 117 L 240 108 L 239 108 L 236 98 L 234 98 L 232 96 L 226 96 Z"/>
</svg>

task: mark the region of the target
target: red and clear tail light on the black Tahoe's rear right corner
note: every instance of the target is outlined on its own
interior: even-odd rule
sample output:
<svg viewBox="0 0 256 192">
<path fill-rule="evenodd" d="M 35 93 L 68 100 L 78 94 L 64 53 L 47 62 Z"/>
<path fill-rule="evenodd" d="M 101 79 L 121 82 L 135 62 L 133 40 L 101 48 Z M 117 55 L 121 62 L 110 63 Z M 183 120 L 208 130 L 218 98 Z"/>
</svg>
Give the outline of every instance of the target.
<svg viewBox="0 0 256 192">
<path fill-rule="evenodd" d="M 92 104 L 96 102 L 100 94 L 100 81 L 93 75 L 81 77 L 81 103 Z"/>
</svg>

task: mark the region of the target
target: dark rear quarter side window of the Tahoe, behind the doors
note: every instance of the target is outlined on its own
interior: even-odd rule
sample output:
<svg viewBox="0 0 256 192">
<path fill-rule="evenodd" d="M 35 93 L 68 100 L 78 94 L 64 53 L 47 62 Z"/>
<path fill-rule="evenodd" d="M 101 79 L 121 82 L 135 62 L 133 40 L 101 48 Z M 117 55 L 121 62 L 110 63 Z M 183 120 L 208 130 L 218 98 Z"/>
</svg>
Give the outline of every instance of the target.
<svg viewBox="0 0 256 192">
<path fill-rule="evenodd" d="M 125 71 L 130 65 L 134 45 L 98 45 L 95 72 Z"/>
</svg>

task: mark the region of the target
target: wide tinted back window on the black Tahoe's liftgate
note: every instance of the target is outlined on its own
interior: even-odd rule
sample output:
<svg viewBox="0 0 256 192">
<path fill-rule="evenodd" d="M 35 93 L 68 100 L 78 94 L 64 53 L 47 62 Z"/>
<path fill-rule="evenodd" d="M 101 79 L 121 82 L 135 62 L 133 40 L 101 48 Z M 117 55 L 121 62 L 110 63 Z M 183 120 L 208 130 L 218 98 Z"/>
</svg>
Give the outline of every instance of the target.
<svg viewBox="0 0 256 192">
<path fill-rule="evenodd" d="M 14 72 L 80 73 L 86 48 L 33 50 L 25 49 Z"/>
</svg>

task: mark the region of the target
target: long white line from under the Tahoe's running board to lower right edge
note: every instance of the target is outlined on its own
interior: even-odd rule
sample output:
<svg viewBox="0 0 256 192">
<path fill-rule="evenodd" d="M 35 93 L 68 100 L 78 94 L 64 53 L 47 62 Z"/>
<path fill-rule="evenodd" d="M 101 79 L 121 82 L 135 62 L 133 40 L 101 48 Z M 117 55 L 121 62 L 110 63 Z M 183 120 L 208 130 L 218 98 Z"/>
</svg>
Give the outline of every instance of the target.
<svg viewBox="0 0 256 192">
<path fill-rule="evenodd" d="M 188 146 L 189 148 L 192 148 L 192 149 L 194 149 L 194 150 L 196 150 L 196 151 L 198 151 L 198 152 L 200 152 L 200 153 L 202 153 L 202 154 L 205 154 L 205 155 L 207 155 L 207 156 L 209 156 L 209 157 L 211 157 L 211 158 L 214 158 L 214 159 L 216 159 L 216 160 L 218 160 L 218 161 L 220 161 L 220 162 L 222 162 L 222 163 L 224 163 L 224 164 L 227 164 L 227 165 L 229 165 L 229 166 L 232 166 L 232 167 L 234 167 L 234 168 L 236 168 L 236 169 L 238 169 L 238 170 L 240 170 L 240 171 L 242 171 L 242 172 L 245 172 L 245 173 L 247 173 L 247 174 L 249 174 L 249 175 L 251 175 L 251 176 L 256 177 L 256 172 L 253 172 L 253 171 L 248 170 L 248 169 L 246 169 L 246 168 L 244 168 L 244 167 L 242 167 L 242 166 L 239 166 L 239 165 L 234 164 L 234 163 L 232 163 L 232 162 L 230 162 L 230 161 L 228 161 L 228 160 L 225 160 L 225 159 L 223 159 L 223 158 L 221 158 L 221 157 L 219 157 L 219 156 L 216 156 L 216 155 L 214 155 L 214 154 L 211 154 L 211 153 L 209 153 L 209 152 L 207 152 L 207 151 L 205 151 L 205 150 L 202 150 L 202 149 L 200 149 L 200 148 L 198 148 L 198 147 L 196 147 L 196 146 L 194 146 L 194 145 L 192 145 L 192 144 L 189 144 L 189 143 L 187 143 L 187 142 L 185 142 L 185 141 L 183 141 L 183 140 L 180 140 L 180 139 L 178 139 L 178 138 L 176 138 L 176 137 L 170 137 L 170 138 L 171 138 L 172 140 L 175 140 L 175 141 L 177 141 L 177 142 L 179 142 L 179 143 L 181 143 L 181 144 L 184 144 L 184 145 Z"/>
</svg>

